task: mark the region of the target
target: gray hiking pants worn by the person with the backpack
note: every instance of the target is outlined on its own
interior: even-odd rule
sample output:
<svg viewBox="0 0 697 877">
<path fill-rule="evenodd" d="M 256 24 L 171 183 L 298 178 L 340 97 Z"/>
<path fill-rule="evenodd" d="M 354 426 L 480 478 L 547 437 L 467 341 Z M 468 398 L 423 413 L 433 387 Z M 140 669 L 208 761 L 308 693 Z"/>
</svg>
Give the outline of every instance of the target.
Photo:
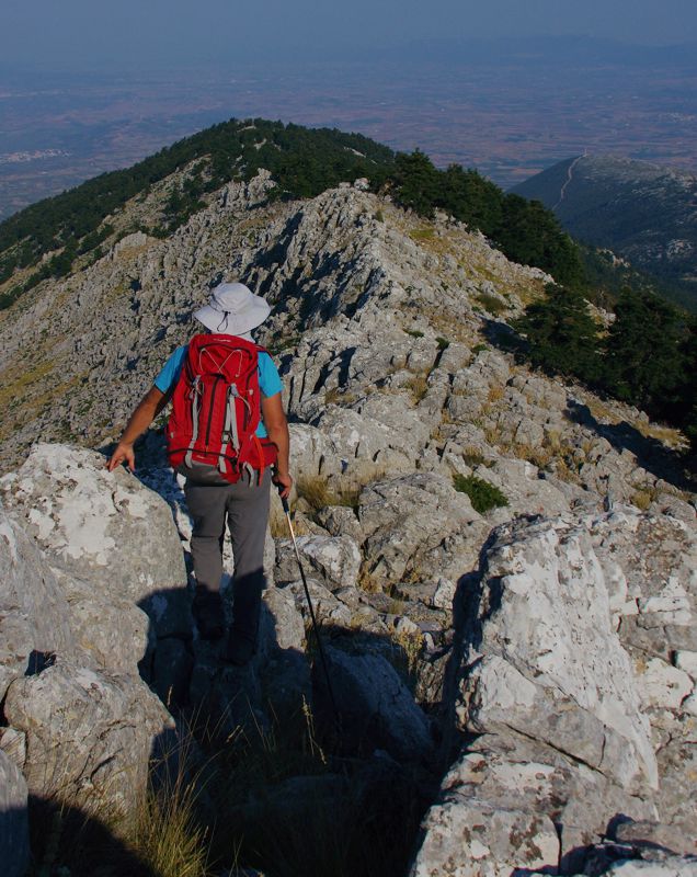
<svg viewBox="0 0 697 877">
<path fill-rule="evenodd" d="M 271 469 L 261 485 L 199 483 L 187 479 L 186 504 L 193 520 L 191 553 L 196 573 L 196 602 L 218 605 L 226 524 L 235 556 L 233 622 L 237 636 L 255 640 L 265 585 L 264 542 L 271 501 Z M 221 611 L 221 610 L 219 610 Z"/>
</svg>

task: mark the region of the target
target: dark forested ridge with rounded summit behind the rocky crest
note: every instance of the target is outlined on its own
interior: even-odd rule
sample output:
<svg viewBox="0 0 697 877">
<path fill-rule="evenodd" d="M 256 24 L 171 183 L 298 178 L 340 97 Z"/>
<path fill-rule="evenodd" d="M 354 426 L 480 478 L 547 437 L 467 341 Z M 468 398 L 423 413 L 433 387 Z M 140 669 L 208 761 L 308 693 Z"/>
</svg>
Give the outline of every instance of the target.
<svg viewBox="0 0 697 877">
<path fill-rule="evenodd" d="M 443 209 L 479 228 L 513 261 L 541 267 L 564 284 L 583 284 L 579 251 L 550 210 L 506 195 L 479 173 L 436 169 L 420 151 L 395 153 L 357 134 L 308 129 L 264 119 L 231 119 L 199 132 L 122 171 L 89 180 L 0 224 L 0 308 L 43 280 L 68 275 L 136 230 L 167 237 L 232 180 L 261 168 L 275 187 L 270 198 L 313 197 L 341 182 L 367 178 L 402 205 L 432 216 Z M 183 172 L 167 186 L 168 178 Z M 132 198 L 167 187 L 157 217 L 118 227 L 114 216 Z"/>
</svg>

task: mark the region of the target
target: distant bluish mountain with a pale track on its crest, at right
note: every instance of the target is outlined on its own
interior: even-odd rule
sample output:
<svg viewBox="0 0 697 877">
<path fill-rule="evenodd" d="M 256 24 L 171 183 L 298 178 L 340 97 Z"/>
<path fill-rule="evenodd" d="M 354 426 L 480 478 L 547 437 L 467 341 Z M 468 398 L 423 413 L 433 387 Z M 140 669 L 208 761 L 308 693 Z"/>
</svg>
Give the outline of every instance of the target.
<svg viewBox="0 0 697 877">
<path fill-rule="evenodd" d="M 697 305 L 697 178 L 618 156 L 560 161 L 512 190 L 553 209 L 573 237 L 612 249 Z"/>
</svg>

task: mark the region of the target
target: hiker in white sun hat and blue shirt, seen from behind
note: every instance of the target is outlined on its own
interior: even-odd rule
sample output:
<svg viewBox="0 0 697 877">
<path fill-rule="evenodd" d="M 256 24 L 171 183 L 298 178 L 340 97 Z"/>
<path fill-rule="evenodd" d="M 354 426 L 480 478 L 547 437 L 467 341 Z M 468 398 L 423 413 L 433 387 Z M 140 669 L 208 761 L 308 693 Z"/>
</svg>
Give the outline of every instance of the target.
<svg viewBox="0 0 697 877">
<path fill-rule="evenodd" d="M 220 579 L 227 524 L 235 579 L 225 657 L 238 665 L 256 648 L 271 483 L 283 499 L 293 486 L 283 385 L 271 356 L 251 337 L 270 311 L 241 283 L 216 286 L 209 304 L 194 314 L 208 332 L 171 354 L 106 464 L 112 471 L 126 463 L 133 471 L 134 442 L 172 398 L 168 452 L 170 464 L 186 476 L 194 618 L 203 639 L 224 635 Z"/>
</svg>

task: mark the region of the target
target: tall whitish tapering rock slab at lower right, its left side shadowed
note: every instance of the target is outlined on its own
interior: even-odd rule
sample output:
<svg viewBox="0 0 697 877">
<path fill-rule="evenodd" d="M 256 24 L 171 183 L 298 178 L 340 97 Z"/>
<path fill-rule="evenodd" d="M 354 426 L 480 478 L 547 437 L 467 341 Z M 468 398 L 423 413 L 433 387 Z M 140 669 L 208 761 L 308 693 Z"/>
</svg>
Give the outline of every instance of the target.
<svg viewBox="0 0 697 877">
<path fill-rule="evenodd" d="M 649 721 L 583 525 L 500 532 L 469 649 L 466 728 L 533 734 L 620 785 L 658 784 Z"/>
</svg>

